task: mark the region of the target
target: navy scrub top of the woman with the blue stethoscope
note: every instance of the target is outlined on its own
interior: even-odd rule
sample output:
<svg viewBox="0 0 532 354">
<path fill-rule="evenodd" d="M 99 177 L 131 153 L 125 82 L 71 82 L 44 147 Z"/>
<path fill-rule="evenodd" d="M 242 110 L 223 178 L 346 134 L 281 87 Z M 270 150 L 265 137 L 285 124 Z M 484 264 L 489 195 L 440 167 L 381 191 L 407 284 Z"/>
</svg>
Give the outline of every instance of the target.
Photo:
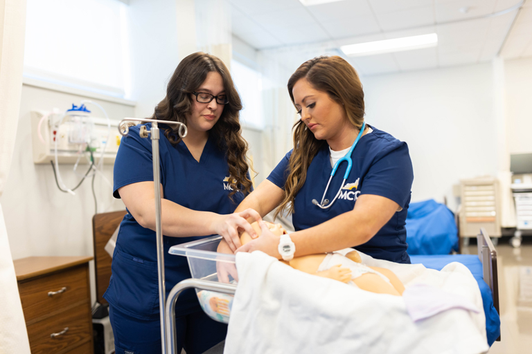
<svg viewBox="0 0 532 354">
<path fill-rule="evenodd" d="M 405 225 L 414 171 L 407 143 L 372 128 L 373 131 L 362 136 L 355 147 L 351 156 L 351 174 L 342 194 L 328 209 L 312 204 L 312 199 L 321 201 L 332 171 L 329 146 L 323 145 L 308 167 L 305 184 L 296 194 L 292 222 L 296 231 L 305 230 L 353 210 L 361 194 L 384 196 L 398 203 L 402 210 L 396 212 L 371 240 L 355 249 L 376 259 L 410 263 Z M 292 151 L 288 152 L 267 178 L 283 189 L 290 169 L 288 161 L 291 154 Z M 342 162 L 332 178 L 325 196 L 329 201 L 335 198 L 342 185 L 346 169 L 347 163 Z"/>
</svg>

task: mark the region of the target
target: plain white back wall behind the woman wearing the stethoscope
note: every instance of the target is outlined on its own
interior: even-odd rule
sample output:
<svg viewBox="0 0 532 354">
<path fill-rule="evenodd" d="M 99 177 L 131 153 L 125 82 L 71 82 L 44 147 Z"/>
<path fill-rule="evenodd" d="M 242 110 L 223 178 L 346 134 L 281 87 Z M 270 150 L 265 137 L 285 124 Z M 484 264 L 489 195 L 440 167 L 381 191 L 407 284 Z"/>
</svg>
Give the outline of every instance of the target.
<svg viewBox="0 0 532 354">
<path fill-rule="evenodd" d="M 362 77 L 369 124 L 407 142 L 412 201 L 456 208 L 452 185 L 497 174 L 491 64 Z"/>
</svg>

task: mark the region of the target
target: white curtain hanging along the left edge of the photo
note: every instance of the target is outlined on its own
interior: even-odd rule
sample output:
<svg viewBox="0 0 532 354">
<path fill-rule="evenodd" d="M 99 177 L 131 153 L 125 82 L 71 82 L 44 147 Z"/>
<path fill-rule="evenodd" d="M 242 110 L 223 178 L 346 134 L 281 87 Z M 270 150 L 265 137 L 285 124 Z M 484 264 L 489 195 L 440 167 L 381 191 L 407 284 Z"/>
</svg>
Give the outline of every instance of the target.
<svg viewBox="0 0 532 354">
<path fill-rule="evenodd" d="M 6 186 L 20 109 L 26 0 L 0 0 L 0 196 Z M 30 353 L 0 205 L 0 353 Z"/>
</svg>

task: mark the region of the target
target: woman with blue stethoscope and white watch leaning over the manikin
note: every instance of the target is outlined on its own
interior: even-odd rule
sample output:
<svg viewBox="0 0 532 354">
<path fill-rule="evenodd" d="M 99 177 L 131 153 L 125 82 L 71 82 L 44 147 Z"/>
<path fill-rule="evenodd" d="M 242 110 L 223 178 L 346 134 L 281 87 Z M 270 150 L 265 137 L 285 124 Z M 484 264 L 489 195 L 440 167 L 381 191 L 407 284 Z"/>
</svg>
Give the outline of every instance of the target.
<svg viewBox="0 0 532 354">
<path fill-rule="evenodd" d="M 292 212 L 296 232 L 262 236 L 238 251 L 290 260 L 355 248 L 376 259 L 410 263 L 405 220 L 414 173 L 407 144 L 364 122 L 360 79 L 341 57 L 299 66 L 288 93 L 301 119 L 294 149 L 237 211 Z M 229 252 L 224 243 L 221 252 Z"/>
</svg>

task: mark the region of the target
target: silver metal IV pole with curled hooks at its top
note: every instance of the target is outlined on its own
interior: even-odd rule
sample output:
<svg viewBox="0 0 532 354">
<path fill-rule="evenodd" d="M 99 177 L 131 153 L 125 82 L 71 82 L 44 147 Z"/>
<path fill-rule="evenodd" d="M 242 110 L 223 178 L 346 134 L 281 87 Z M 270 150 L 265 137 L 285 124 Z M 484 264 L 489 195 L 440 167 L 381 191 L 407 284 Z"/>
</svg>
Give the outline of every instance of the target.
<svg viewBox="0 0 532 354">
<path fill-rule="evenodd" d="M 181 122 L 172 122 L 168 120 L 154 120 L 154 119 L 139 119 L 139 118 L 124 118 L 118 124 L 118 131 L 122 136 L 127 136 L 130 127 L 127 122 L 151 122 L 152 128 L 146 129 L 146 126 L 141 126 L 141 138 L 148 138 L 152 136 L 152 160 L 153 160 L 153 183 L 155 191 L 155 234 L 157 235 L 157 276 L 159 277 L 159 314 L 161 319 L 161 346 L 163 354 L 166 354 L 166 284 L 164 277 L 164 257 L 163 257 L 163 234 L 161 222 L 161 176 L 159 165 L 159 123 L 168 125 L 179 125 L 179 137 L 184 138 L 188 132 L 186 125 Z"/>
</svg>

